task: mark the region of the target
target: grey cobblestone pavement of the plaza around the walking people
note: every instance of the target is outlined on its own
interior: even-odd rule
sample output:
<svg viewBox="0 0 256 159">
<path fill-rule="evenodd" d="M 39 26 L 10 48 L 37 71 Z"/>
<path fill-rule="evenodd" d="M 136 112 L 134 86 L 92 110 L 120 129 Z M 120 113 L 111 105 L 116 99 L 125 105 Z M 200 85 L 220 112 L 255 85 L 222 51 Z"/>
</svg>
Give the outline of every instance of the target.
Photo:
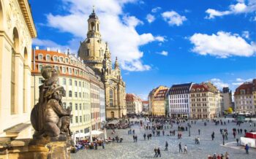
<svg viewBox="0 0 256 159">
<path fill-rule="evenodd" d="M 72 154 L 71 158 L 154 158 L 154 147 L 159 147 L 161 150 L 162 158 L 207 158 L 208 155 L 217 153 L 219 155 L 225 155 L 225 152 L 229 153 L 230 158 L 255 158 L 256 150 L 249 149 L 249 155 L 246 155 L 244 147 L 236 146 L 236 139 L 233 137 L 233 128 L 242 128 L 244 136 L 244 129 L 248 131 L 256 130 L 254 124 L 250 127 L 249 123 L 243 123 L 240 127 L 236 123 L 227 122 L 228 119 L 222 119 L 226 122 L 226 125 L 215 125 L 209 121 L 207 125 L 204 125 L 202 120 L 198 120 L 196 124 L 192 124 L 191 136 L 189 132 L 184 131 L 182 133 L 182 139 L 177 139 L 177 124 L 173 125 L 173 128 L 165 129 L 165 136 L 152 136 L 152 139 L 144 141 L 143 134 L 151 133 L 151 131 L 145 131 L 139 125 L 133 125 L 132 130 L 135 129 L 135 134 L 138 136 L 138 142 L 133 142 L 132 135 L 128 135 L 128 129 L 117 130 L 115 134 L 111 134 L 108 131 L 108 136 L 119 136 L 124 139 L 122 143 L 110 143 L 105 145 L 105 150 L 99 147 L 98 150 L 80 150 L 79 152 Z M 255 120 L 253 120 L 255 123 Z M 187 123 L 181 125 L 186 126 Z M 222 146 L 222 135 L 220 134 L 220 128 L 227 128 L 228 140 L 225 140 L 225 147 Z M 198 129 L 200 129 L 200 135 L 198 135 Z M 169 131 L 176 131 L 176 136 L 167 136 Z M 214 131 L 215 139 L 211 140 L 211 133 Z M 195 137 L 200 137 L 200 144 L 195 144 Z M 165 141 L 168 142 L 168 151 L 165 150 Z M 178 143 L 181 142 L 182 148 L 187 144 L 188 153 L 178 152 Z M 232 143 L 235 142 L 235 143 Z"/>
</svg>

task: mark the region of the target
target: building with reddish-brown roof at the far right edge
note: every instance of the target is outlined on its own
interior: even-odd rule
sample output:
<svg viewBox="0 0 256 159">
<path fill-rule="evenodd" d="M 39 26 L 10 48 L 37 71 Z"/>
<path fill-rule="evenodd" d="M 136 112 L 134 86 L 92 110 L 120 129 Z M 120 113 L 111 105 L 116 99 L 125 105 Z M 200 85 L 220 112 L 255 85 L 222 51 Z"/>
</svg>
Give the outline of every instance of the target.
<svg viewBox="0 0 256 159">
<path fill-rule="evenodd" d="M 253 80 L 252 82 L 244 82 L 236 88 L 234 95 L 236 112 L 256 115 L 255 85 L 256 80 Z"/>
</svg>

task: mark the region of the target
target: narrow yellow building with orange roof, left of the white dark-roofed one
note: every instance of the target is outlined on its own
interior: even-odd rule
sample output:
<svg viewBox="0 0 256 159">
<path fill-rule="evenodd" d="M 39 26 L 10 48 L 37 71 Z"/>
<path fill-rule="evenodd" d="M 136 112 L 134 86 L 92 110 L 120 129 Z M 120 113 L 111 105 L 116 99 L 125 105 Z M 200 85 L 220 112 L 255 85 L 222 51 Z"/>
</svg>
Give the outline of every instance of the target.
<svg viewBox="0 0 256 159">
<path fill-rule="evenodd" d="M 155 116 L 165 116 L 165 99 L 166 93 L 169 88 L 165 86 L 159 86 L 154 90 L 151 90 L 151 93 L 148 95 L 148 103 L 151 109 L 151 115 Z M 149 111 L 150 112 L 150 111 Z"/>
</svg>

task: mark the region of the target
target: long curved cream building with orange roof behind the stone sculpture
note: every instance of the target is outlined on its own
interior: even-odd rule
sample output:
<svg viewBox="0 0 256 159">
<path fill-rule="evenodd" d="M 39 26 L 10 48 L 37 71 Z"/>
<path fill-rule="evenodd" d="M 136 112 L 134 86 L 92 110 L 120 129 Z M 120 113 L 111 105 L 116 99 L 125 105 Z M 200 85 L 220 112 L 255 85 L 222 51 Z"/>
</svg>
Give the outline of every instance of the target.
<svg viewBox="0 0 256 159">
<path fill-rule="evenodd" d="M 31 53 L 31 104 L 37 104 L 39 85 L 42 84 L 40 70 L 50 65 L 59 70 L 59 84 L 66 90 L 63 106 L 72 109 L 70 129 L 72 133 L 87 133 L 91 130 L 91 72 L 75 55 L 56 51 L 33 50 Z M 92 101 L 93 102 L 93 101 Z"/>
</svg>

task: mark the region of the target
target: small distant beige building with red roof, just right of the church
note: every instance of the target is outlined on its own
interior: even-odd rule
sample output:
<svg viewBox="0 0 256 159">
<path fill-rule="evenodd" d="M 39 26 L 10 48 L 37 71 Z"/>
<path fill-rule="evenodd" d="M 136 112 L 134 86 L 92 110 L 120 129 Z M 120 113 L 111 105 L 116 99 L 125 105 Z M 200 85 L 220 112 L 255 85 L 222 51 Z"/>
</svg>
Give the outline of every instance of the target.
<svg viewBox="0 0 256 159">
<path fill-rule="evenodd" d="M 140 115 L 143 111 L 143 104 L 140 97 L 136 96 L 133 93 L 127 93 L 126 96 L 127 102 L 127 114 L 136 114 Z"/>
</svg>

